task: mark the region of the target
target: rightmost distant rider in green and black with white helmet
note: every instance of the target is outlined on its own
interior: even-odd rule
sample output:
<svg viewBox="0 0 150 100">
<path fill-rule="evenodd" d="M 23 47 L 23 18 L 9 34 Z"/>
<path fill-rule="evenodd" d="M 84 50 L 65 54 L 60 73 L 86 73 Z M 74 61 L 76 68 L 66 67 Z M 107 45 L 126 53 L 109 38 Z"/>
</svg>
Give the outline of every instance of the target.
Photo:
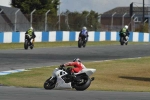
<svg viewBox="0 0 150 100">
<path fill-rule="evenodd" d="M 128 26 L 125 25 L 125 27 L 123 27 L 123 28 L 120 30 L 119 33 L 120 33 L 120 34 L 119 34 L 119 35 L 120 35 L 120 40 L 121 40 L 121 37 L 123 37 L 123 38 L 125 39 L 125 41 L 128 42 L 128 38 L 129 38 L 129 35 L 130 35 L 129 30 L 128 30 Z"/>
</svg>

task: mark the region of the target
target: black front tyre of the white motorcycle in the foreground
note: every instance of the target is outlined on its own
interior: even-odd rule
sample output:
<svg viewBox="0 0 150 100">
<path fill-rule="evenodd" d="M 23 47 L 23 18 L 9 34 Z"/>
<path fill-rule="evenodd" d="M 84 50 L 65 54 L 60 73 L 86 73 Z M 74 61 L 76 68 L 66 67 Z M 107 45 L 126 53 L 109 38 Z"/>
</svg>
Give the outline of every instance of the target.
<svg viewBox="0 0 150 100">
<path fill-rule="evenodd" d="M 51 79 L 51 77 L 44 82 L 44 88 L 46 90 L 51 90 L 51 89 L 55 88 L 57 79 L 56 78 L 53 78 L 51 80 L 50 79 Z"/>
</svg>

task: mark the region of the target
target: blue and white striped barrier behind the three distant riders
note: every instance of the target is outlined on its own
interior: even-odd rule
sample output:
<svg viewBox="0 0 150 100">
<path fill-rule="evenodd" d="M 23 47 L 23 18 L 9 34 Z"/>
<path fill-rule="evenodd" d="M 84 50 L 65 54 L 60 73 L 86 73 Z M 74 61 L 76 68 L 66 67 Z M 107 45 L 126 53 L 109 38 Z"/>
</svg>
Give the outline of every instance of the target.
<svg viewBox="0 0 150 100">
<path fill-rule="evenodd" d="M 77 41 L 79 31 L 35 32 L 35 42 Z M 24 42 L 25 32 L 0 32 L 0 43 Z M 90 31 L 88 41 L 119 41 L 119 32 Z M 130 32 L 129 41 L 150 42 L 150 33 Z"/>
</svg>

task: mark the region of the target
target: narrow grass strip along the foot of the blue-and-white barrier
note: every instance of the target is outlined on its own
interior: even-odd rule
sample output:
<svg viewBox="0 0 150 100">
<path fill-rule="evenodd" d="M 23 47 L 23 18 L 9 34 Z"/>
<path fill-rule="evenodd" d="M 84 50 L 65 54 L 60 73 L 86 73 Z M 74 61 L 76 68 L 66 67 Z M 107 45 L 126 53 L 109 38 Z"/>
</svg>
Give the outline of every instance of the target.
<svg viewBox="0 0 150 100">
<path fill-rule="evenodd" d="M 129 42 L 129 45 L 132 44 L 148 44 L 149 42 Z M 118 45 L 119 42 L 116 41 L 101 41 L 101 42 L 87 42 L 87 46 L 94 45 Z M 61 46 L 77 46 L 77 42 L 35 42 L 34 48 L 42 47 L 61 47 Z M 0 49 L 18 49 L 24 48 L 23 43 L 2 43 L 0 44 Z"/>
</svg>

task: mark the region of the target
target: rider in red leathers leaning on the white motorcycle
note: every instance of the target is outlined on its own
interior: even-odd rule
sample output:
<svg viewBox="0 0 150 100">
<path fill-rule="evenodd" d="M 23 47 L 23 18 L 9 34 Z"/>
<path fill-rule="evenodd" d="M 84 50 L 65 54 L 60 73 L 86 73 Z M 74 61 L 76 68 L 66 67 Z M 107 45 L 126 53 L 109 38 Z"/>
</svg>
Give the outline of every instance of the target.
<svg viewBox="0 0 150 100">
<path fill-rule="evenodd" d="M 65 66 L 74 66 L 74 68 L 70 68 L 67 72 L 71 76 L 71 78 L 75 79 L 74 73 L 80 72 L 82 69 L 86 68 L 79 58 L 75 58 L 72 62 L 67 62 L 65 64 L 60 65 L 60 67 Z"/>
</svg>

